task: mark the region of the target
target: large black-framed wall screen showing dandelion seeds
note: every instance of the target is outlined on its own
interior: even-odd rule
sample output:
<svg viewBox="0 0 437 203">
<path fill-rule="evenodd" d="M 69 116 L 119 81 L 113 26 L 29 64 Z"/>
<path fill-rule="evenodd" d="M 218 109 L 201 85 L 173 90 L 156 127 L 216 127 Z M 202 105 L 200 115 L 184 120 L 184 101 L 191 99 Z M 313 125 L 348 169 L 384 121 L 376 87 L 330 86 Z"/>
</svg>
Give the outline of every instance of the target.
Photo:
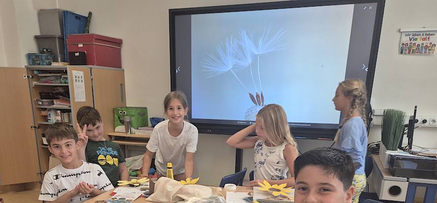
<svg viewBox="0 0 437 203">
<path fill-rule="evenodd" d="M 383 10 L 369 2 L 171 9 L 171 88 L 186 95 L 199 132 L 233 134 L 278 104 L 296 137 L 332 139 L 338 82 L 372 84 Z"/>
</svg>

